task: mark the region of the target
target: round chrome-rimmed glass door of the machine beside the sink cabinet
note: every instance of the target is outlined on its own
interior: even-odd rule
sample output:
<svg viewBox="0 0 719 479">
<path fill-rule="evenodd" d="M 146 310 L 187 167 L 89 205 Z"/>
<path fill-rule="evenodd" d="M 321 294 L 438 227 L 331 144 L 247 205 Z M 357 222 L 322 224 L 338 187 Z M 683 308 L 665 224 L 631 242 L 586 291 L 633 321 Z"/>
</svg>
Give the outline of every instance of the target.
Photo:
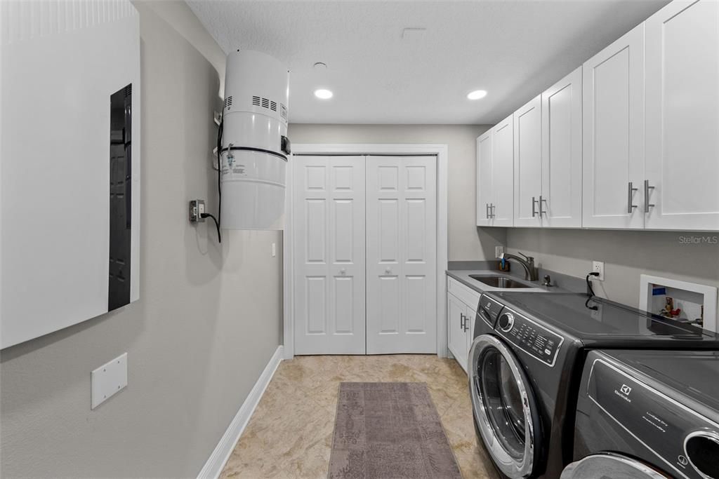
<svg viewBox="0 0 719 479">
<path fill-rule="evenodd" d="M 514 353 L 491 335 L 470 350 L 470 390 L 475 423 L 487 452 L 510 478 L 536 471 L 541 445 L 539 409 Z"/>
</svg>

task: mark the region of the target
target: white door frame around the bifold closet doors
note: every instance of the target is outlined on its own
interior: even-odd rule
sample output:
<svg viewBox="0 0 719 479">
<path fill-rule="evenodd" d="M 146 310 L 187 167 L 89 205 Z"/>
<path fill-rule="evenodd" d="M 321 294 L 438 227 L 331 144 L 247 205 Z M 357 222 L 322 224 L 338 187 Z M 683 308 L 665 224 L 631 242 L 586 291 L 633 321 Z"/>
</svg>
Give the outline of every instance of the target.
<svg viewBox="0 0 719 479">
<path fill-rule="evenodd" d="M 434 155 L 437 158 L 437 231 L 436 231 L 436 313 L 437 313 L 437 355 L 447 357 L 446 287 L 441 282 L 447 269 L 447 159 L 446 144 L 336 144 L 304 143 L 293 144 L 293 155 L 392 155 L 417 156 Z M 294 208 L 294 162 L 287 164 L 287 187 L 285 190 L 285 230 L 283 236 L 283 353 L 285 359 L 295 355 L 294 269 L 293 269 L 293 215 Z"/>
</svg>

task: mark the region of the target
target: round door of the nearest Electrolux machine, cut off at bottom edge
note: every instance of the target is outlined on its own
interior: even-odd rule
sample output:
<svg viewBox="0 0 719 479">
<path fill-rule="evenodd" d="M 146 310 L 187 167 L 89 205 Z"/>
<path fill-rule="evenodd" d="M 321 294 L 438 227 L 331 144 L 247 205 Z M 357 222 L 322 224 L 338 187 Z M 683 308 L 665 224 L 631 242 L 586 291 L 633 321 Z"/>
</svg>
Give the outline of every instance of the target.
<svg viewBox="0 0 719 479">
<path fill-rule="evenodd" d="M 603 452 L 572 462 L 560 479 L 669 479 L 658 470 L 631 457 Z"/>
</svg>

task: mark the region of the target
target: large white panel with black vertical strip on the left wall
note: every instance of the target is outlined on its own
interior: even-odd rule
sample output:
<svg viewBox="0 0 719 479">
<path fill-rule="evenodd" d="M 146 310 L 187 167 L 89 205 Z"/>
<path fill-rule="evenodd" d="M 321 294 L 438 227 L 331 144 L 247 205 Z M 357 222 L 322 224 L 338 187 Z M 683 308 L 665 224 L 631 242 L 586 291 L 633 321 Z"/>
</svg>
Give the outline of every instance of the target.
<svg viewBox="0 0 719 479">
<path fill-rule="evenodd" d="M 127 0 L 0 2 L 0 336 L 139 298 L 139 15 Z"/>
</svg>

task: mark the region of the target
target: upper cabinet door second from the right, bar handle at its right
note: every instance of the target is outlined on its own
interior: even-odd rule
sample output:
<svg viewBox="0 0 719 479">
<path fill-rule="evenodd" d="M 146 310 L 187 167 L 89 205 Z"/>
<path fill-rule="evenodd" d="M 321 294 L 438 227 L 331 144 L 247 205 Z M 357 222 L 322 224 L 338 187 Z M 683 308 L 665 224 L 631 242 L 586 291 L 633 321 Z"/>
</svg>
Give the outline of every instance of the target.
<svg viewBox="0 0 719 479">
<path fill-rule="evenodd" d="M 644 228 L 644 24 L 582 65 L 582 225 Z"/>
</svg>

